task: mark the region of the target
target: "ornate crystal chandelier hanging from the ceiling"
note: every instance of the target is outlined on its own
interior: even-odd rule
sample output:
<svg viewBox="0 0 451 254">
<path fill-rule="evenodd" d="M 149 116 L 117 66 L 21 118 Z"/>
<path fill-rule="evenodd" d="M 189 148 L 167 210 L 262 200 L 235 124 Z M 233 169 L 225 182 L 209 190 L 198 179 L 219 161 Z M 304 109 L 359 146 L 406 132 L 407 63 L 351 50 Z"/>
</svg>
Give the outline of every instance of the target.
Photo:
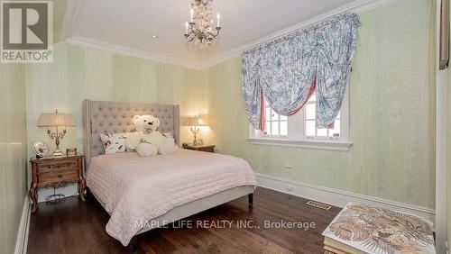
<svg viewBox="0 0 451 254">
<path fill-rule="evenodd" d="M 193 0 L 189 22 L 185 23 L 185 39 L 188 43 L 211 45 L 219 35 L 221 16 L 216 15 L 216 27 L 213 28 L 212 3 L 213 0 Z"/>
</svg>

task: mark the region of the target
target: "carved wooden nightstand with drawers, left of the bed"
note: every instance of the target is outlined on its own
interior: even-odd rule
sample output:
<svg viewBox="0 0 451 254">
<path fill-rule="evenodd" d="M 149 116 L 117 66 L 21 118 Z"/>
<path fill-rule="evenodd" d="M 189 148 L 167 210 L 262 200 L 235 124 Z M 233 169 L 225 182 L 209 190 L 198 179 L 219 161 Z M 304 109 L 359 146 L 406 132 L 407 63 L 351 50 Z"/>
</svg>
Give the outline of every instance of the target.
<svg viewBox="0 0 451 254">
<path fill-rule="evenodd" d="M 85 201 L 85 177 L 83 177 L 83 155 L 59 158 L 30 159 L 32 162 L 32 213 L 38 208 L 38 189 L 67 186 L 78 183 L 78 194 Z"/>
</svg>

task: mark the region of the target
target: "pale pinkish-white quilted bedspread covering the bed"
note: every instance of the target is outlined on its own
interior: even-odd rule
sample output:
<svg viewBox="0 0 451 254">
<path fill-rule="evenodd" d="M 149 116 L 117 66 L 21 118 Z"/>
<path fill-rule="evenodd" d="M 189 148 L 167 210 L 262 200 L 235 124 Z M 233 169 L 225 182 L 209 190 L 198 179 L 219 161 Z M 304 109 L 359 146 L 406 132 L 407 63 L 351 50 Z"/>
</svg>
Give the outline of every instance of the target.
<svg viewBox="0 0 451 254">
<path fill-rule="evenodd" d="M 137 153 L 91 159 L 87 186 L 111 218 L 106 232 L 125 246 L 141 228 L 170 209 L 237 186 L 256 186 L 244 159 L 192 150 L 140 157 Z"/>
</svg>

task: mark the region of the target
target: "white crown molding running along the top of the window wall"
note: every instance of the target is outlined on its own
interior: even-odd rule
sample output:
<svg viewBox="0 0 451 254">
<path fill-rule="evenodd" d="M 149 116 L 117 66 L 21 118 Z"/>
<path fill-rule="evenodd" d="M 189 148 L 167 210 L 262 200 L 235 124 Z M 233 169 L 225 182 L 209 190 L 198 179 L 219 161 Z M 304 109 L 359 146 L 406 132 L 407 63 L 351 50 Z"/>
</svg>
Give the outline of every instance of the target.
<svg viewBox="0 0 451 254">
<path fill-rule="evenodd" d="M 220 54 L 216 58 L 208 59 L 204 62 L 201 62 L 198 67 L 200 69 L 209 68 L 209 67 L 215 66 L 216 64 L 222 63 L 226 60 L 235 59 L 235 58 L 241 56 L 241 54 L 243 53 L 244 50 L 249 50 L 256 45 L 261 44 L 262 42 L 272 41 L 276 38 L 279 38 L 281 36 L 284 36 L 290 32 L 299 30 L 301 28 L 306 28 L 314 23 L 318 23 L 331 16 L 335 16 L 337 14 L 343 14 L 343 13 L 350 12 L 350 11 L 353 11 L 357 14 L 362 14 L 364 12 L 371 11 L 374 8 L 377 8 L 379 6 L 388 5 L 394 1 L 397 1 L 397 0 L 356 0 L 348 5 L 343 5 L 334 10 L 331 10 L 325 14 L 320 14 L 320 15 L 315 16 L 311 19 L 308 19 L 307 21 L 304 21 L 302 23 L 297 23 L 297 24 L 287 27 L 281 31 L 273 32 L 272 34 L 270 34 L 268 36 L 262 37 L 261 39 L 251 41 L 247 44 L 244 44 L 243 46 L 240 46 L 233 50 L 226 51 L 225 53 Z"/>
</svg>

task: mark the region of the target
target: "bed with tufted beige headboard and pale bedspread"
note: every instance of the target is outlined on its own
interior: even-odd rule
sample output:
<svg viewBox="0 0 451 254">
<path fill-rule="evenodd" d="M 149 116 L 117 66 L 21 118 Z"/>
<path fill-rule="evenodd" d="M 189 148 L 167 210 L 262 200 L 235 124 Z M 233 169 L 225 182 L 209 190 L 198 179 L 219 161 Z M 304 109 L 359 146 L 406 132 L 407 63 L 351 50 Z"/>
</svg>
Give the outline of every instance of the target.
<svg viewBox="0 0 451 254">
<path fill-rule="evenodd" d="M 87 188 L 110 214 L 106 231 L 132 252 L 137 236 L 244 195 L 256 186 L 244 159 L 177 148 L 170 155 L 105 155 L 99 134 L 133 132 L 133 115 L 152 114 L 179 145 L 179 105 L 85 100 Z"/>
</svg>

